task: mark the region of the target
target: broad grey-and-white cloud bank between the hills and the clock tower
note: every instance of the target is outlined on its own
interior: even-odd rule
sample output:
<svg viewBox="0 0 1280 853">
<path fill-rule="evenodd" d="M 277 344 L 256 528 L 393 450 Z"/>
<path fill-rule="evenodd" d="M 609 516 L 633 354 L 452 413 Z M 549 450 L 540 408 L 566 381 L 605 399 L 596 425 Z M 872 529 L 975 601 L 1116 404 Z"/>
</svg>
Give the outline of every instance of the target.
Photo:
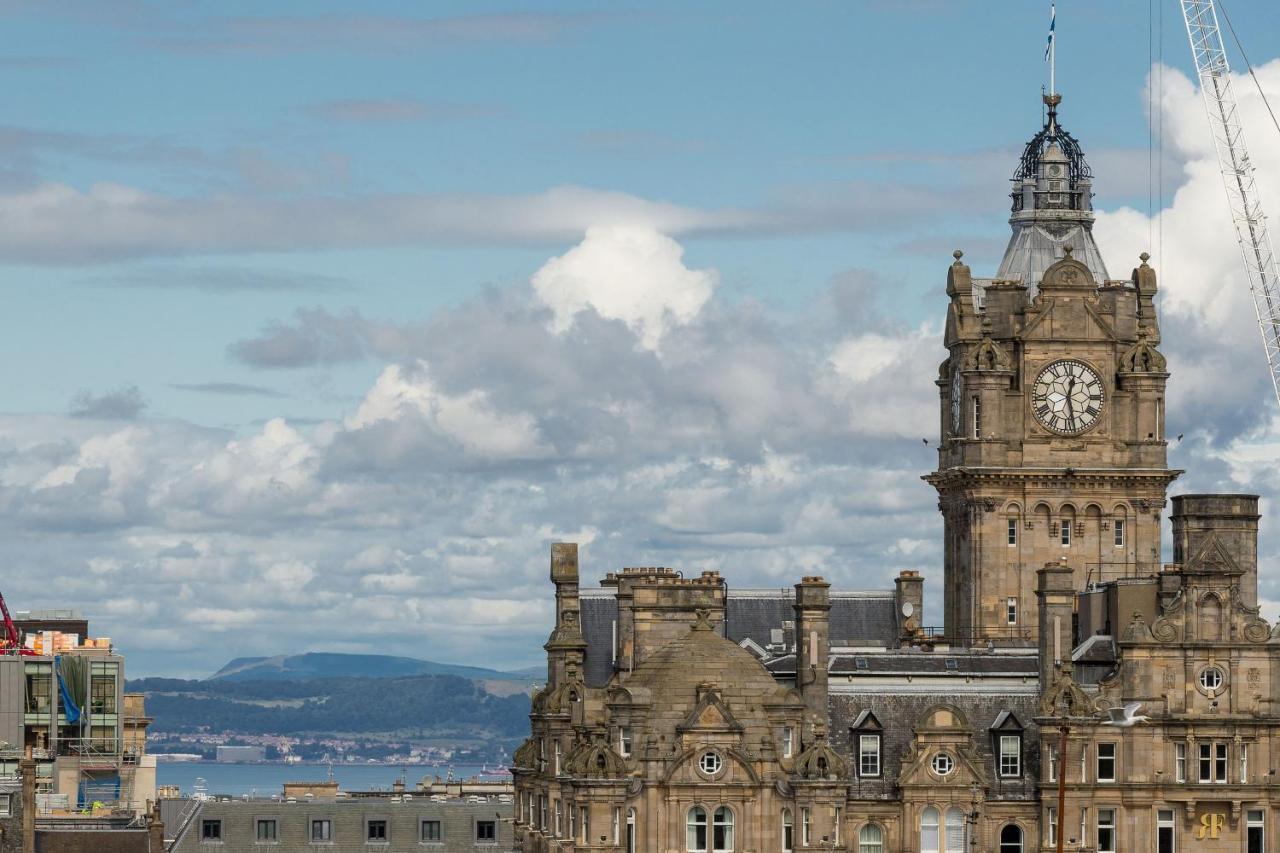
<svg viewBox="0 0 1280 853">
<path fill-rule="evenodd" d="M 660 233 L 593 232 L 556 260 L 535 270 L 558 282 L 545 292 L 417 323 L 282 325 L 308 332 L 262 364 L 388 362 L 308 430 L 0 419 L 0 542 L 45 570 L 5 593 L 52 605 L 55 576 L 59 601 L 114 601 L 145 579 L 151 610 L 86 605 L 136 672 L 307 648 L 316 624 L 353 619 L 367 626 L 353 647 L 517 666 L 545 638 L 556 539 L 582 543 L 588 584 L 637 562 L 736 585 L 808 571 L 883 585 L 929 566 L 936 546 L 899 540 L 937 526 L 913 412 L 933 405 L 940 342 L 886 320 L 878 282 L 841 277 L 794 316 L 717 297 L 716 272 Z M 890 392 L 905 414 L 876 420 Z"/>
</svg>

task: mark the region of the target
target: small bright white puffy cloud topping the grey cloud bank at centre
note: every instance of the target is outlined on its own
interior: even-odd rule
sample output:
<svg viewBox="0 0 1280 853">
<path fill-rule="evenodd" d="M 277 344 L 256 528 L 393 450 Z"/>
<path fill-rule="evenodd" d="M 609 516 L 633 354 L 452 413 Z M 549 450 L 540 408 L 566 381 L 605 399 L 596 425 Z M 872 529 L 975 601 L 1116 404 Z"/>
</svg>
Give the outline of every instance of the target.
<svg viewBox="0 0 1280 853">
<path fill-rule="evenodd" d="M 591 309 L 622 320 L 655 351 L 667 332 L 698 316 L 718 280 L 716 270 L 685 266 L 684 255 L 680 243 L 652 227 L 596 225 L 534 274 L 534 291 L 556 314 L 558 333 Z"/>
</svg>

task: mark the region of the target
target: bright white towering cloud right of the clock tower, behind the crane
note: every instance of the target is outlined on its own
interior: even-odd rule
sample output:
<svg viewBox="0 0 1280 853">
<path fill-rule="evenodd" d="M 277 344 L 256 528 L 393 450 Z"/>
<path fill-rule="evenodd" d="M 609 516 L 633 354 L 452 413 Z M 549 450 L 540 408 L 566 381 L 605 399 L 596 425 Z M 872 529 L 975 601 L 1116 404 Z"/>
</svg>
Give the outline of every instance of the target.
<svg viewBox="0 0 1280 853">
<path fill-rule="evenodd" d="M 1280 60 L 1256 70 L 1263 88 L 1280 88 Z M 1238 76 L 1234 88 L 1261 195 L 1274 206 L 1280 147 L 1263 143 L 1271 117 L 1252 81 Z M 1102 211 L 1094 234 L 1116 274 L 1135 266 L 1139 252 L 1153 255 L 1174 371 L 1169 433 L 1202 430 L 1212 447 L 1228 447 L 1265 433 L 1275 400 L 1199 91 L 1166 68 L 1158 95 L 1166 146 L 1184 163 L 1181 183 L 1158 220 L 1128 207 Z"/>
</svg>

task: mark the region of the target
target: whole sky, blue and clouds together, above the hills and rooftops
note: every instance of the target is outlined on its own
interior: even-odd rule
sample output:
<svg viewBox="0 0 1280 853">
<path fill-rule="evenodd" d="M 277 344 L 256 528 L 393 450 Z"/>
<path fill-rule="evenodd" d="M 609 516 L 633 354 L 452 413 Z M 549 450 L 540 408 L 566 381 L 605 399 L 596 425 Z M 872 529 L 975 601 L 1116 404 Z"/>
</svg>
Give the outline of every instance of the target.
<svg viewBox="0 0 1280 853">
<path fill-rule="evenodd" d="M 1229 12 L 1280 104 L 1280 10 Z M 941 622 L 946 268 L 995 273 L 1047 18 L 0 0 L 0 590 L 132 675 L 536 665 L 561 539 L 588 585 L 916 569 Z M 1057 38 L 1110 273 L 1161 275 L 1174 491 L 1266 511 L 1280 418 L 1178 4 L 1064 0 Z"/>
</svg>

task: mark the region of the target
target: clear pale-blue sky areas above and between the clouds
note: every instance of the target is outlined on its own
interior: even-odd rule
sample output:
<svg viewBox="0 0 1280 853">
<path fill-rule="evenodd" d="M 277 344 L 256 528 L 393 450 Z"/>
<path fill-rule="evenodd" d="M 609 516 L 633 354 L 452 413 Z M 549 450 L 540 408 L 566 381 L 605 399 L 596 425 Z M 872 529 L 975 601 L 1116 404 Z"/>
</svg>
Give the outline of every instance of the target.
<svg viewBox="0 0 1280 853">
<path fill-rule="evenodd" d="M 19 4 L 6 20 L 10 45 L 22 46 L 5 90 L 10 124 L 65 142 L 14 151 L 31 172 L 13 179 L 196 199 L 580 186 L 703 209 L 849 182 L 890 193 L 900 183 L 956 187 L 968 179 L 963 165 L 906 158 L 1014 150 L 1034 132 L 1042 5 L 828 3 L 777 14 L 768 4 L 561 3 L 530 13 L 468 3 L 431 4 L 425 15 L 421 4 L 83 4 L 82 14 Z M 1263 9 L 1238 10 L 1260 46 L 1277 27 Z M 1164 22 L 1166 61 L 1185 67 L 1174 12 Z M 402 17 L 439 32 L 401 38 Z M 1089 149 L 1144 150 L 1146 5 L 1065 3 L 1059 38 L 1064 120 Z M 998 236 L 1006 186 L 975 188 L 975 202 L 987 204 L 948 211 L 947 236 Z M 1146 202 L 1101 179 L 1098 192 L 1100 204 Z M 918 292 L 948 252 L 902 245 L 933 225 L 685 245 L 733 292 L 795 306 L 852 265 L 884 269 Z M 9 359 L 51 359 L 49 371 L 19 373 L 10 407 L 60 411 L 78 388 L 136 383 L 165 415 L 219 425 L 270 416 L 269 398 L 209 401 L 169 386 L 261 384 L 227 362 L 225 343 L 300 305 L 358 306 L 379 319 L 426 314 L 527 278 L 557 248 L 476 242 L 12 266 L 15 315 L 58 321 L 5 336 Z M 970 256 L 989 264 L 997 242 Z M 192 270 L 259 270 L 297 287 L 314 279 L 317 289 L 156 286 Z M 120 287 L 140 280 L 150 287 Z M 358 393 L 367 378 L 348 377 L 339 389 Z M 271 380 L 305 396 L 294 379 Z M 321 416 L 328 402 L 294 405 Z"/>
</svg>

